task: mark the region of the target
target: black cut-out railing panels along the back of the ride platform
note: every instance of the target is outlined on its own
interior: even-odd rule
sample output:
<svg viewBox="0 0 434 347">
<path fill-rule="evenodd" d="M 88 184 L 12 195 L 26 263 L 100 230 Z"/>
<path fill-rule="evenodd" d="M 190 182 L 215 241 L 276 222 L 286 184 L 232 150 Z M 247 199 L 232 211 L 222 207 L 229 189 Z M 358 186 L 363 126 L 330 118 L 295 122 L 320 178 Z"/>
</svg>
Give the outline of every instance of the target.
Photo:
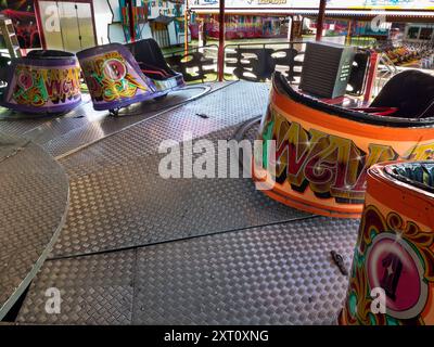
<svg viewBox="0 0 434 347">
<path fill-rule="evenodd" d="M 367 40 L 367 42 L 370 42 Z M 371 42 L 370 42 L 371 43 Z M 225 80 L 269 81 L 275 70 L 292 85 L 298 85 L 306 42 L 275 41 L 229 43 L 225 47 Z M 166 53 L 167 63 L 184 76 L 188 83 L 217 81 L 218 44 L 190 48 Z M 361 66 L 361 68 L 365 68 Z M 374 94 L 396 74 L 396 67 L 383 55 L 374 86 Z M 359 88 L 360 89 L 360 88 Z M 354 90 L 359 95 L 362 90 Z"/>
</svg>

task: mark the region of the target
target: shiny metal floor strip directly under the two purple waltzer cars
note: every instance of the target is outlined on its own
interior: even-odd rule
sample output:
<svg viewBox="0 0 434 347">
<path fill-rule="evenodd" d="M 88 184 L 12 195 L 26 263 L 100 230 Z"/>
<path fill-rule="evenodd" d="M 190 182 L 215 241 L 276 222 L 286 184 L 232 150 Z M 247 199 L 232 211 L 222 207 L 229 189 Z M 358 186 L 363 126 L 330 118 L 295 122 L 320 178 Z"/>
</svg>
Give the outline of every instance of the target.
<svg viewBox="0 0 434 347">
<path fill-rule="evenodd" d="M 53 156 L 61 156 L 171 107 L 177 107 L 209 90 L 216 91 L 229 85 L 189 86 L 170 92 L 164 102 L 151 100 L 124 108 L 119 117 L 110 116 L 106 111 L 94 111 L 89 94 L 82 95 L 84 101 L 80 106 L 63 116 L 38 118 L 33 116 L 31 118 L 31 115 L 21 115 L 1 108 L 0 132 L 25 136 Z M 11 115 L 5 117 L 4 114 Z"/>
</svg>

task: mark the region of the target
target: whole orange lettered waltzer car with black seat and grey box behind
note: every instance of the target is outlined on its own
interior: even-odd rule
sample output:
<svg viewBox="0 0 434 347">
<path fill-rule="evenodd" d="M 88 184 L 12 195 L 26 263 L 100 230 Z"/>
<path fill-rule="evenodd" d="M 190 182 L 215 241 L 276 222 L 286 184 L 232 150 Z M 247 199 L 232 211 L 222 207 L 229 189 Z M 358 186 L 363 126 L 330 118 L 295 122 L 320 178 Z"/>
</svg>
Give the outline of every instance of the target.
<svg viewBox="0 0 434 347">
<path fill-rule="evenodd" d="M 299 88 L 275 74 L 259 139 L 275 140 L 276 153 L 267 156 L 265 141 L 264 159 L 256 157 L 253 169 L 270 197 L 318 215 L 359 218 L 369 167 L 434 157 L 434 77 L 398 74 L 373 102 L 362 103 L 342 90 L 354 75 L 354 56 L 340 47 L 309 43 Z M 361 74 L 363 83 L 369 69 Z"/>
</svg>

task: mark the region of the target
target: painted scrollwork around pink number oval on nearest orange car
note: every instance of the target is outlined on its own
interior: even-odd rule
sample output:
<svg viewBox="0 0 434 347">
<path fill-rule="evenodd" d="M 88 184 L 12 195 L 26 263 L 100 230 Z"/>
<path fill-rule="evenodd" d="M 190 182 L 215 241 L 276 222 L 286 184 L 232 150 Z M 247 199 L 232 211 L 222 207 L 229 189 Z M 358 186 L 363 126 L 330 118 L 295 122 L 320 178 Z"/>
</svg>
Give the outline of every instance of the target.
<svg viewBox="0 0 434 347">
<path fill-rule="evenodd" d="M 425 324 L 434 286 L 434 233 L 366 207 L 343 316 L 347 324 Z M 372 313 L 371 291 L 386 294 L 386 313 Z"/>
</svg>

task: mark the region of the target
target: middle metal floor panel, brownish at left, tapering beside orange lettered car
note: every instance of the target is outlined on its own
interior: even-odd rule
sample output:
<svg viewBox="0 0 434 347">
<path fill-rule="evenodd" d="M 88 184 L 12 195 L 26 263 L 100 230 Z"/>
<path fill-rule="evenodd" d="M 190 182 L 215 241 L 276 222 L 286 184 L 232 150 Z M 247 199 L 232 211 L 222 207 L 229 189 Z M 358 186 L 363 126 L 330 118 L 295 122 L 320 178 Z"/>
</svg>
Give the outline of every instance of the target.
<svg viewBox="0 0 434 347">
<path fill-rule="evenodd" d="M 234 130 L 231 127 L 206 138 L 230 138 Z M 251 179 L 165 180 L 158 174 L 162 156 L 150 154 L 72 177 L 66 224 L 51 257 L 142 246 L 309 216 L 265 196 Z"/>
</svg>

